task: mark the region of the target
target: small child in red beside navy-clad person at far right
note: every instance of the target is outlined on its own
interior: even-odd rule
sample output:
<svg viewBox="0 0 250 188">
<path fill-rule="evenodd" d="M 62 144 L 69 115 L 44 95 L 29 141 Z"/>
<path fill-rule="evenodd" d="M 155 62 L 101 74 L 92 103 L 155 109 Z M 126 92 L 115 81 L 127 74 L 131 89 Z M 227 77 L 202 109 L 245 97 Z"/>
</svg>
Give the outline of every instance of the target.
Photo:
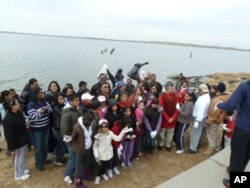
<svg viewBox="0 0 250 188">
<path fill-rule="evenodd" d="M 224 140 L 224 147 L 230 146 L 232 134 L 235 128 L 235 119 L 236 119 L 237 112 L 234 111 L 232 116 L 227 117 L 227 123 L 223 124 L 223 130 L 225 133 L 225 140 Z"/>
</svg>

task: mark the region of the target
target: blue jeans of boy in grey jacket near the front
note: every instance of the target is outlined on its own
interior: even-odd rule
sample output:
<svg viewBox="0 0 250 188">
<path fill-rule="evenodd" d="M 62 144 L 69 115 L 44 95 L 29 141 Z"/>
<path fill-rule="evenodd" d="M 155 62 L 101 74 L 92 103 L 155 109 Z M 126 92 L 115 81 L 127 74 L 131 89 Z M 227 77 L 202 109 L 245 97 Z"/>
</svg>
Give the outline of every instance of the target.
<svg viewBox="0 0 250 188">
<path fill-rule="evenodd" d="M 75 172 L 75 166 L 76 166 L 76 152 L 73 150 L 70 144 L 66 144 L 66 146 L 68 148 L 69 157 L 64 171 L 64 177 L 72 176 L 73 173 Z"/>
</svg>

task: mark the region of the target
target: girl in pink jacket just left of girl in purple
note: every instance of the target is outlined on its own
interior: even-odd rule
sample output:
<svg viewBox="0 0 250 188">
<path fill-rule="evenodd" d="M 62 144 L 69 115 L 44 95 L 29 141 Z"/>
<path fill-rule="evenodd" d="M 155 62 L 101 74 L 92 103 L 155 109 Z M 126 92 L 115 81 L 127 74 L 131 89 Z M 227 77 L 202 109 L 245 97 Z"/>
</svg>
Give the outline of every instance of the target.
<svg viewBox="0 0 250 188">
<path fill-rule="evenodd" d="M 138 160 L 139 155 L 141 155 L 141 137 L 142 137 L 142 118 L 144 113 L 144 101 L 141 100 L 137 108 L 135 109 L 135 117 L 136 117 L 136 129 L 135 129 L 135 144 L 134 144 L 134 156 Z"/>
</svg>

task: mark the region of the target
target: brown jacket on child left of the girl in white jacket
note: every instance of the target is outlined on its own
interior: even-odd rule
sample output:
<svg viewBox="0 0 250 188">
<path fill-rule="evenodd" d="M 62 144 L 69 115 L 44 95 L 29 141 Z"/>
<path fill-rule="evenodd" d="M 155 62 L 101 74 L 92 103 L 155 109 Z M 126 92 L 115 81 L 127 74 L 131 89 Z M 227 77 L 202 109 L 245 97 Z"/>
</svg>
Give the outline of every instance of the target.
<svg viewBox="0 0 250 188">
<path fill-rule="evenodd" d="M 84 130 L 80 125 L 79 119 L 73 127 L 73 132 L 71 135 L 72 136 L 72 147 L 76 153 L 84 154 L 85 153 L 85 135 L 84 135 Z M 97 124 L 93 123 L 92 124 L 92 141 L 94 140 L 93 138 L 94 138 L 94 135 L 96 134 L 96 132 L 97 132 Z"/>
</svg>

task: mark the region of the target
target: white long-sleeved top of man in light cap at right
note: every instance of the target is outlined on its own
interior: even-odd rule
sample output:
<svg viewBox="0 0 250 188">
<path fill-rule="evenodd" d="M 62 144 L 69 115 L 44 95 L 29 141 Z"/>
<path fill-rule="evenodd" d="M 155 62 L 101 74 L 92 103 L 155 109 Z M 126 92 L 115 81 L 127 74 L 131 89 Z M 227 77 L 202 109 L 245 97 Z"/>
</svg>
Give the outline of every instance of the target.
<svg viewBox="0 0 250 188">
<path fill-rule="evenodd" d="M 193 109 L 193 117 L 196 121 L 201 122 L 204 118 L 207 117 L 210 101 L 211 98 L 209 93 L 198 97 Z"/>
</svg>

